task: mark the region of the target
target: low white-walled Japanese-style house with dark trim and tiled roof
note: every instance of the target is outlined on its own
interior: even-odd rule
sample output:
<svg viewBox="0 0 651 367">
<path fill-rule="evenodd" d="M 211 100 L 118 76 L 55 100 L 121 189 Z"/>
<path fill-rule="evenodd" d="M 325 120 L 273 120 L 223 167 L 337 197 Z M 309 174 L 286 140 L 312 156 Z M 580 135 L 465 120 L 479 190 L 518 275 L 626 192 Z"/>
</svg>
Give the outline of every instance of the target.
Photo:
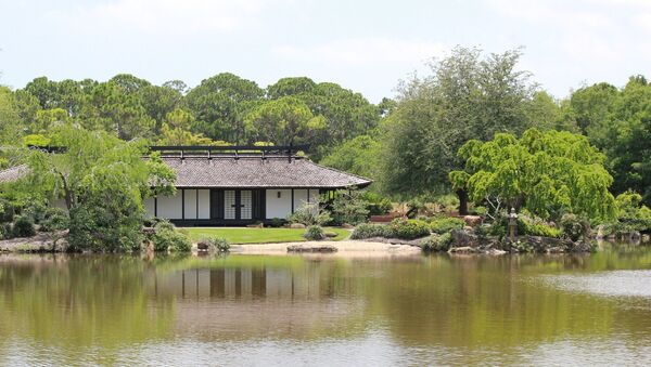
<svg viewBox="0 0 651 367">
<path fill-rule="evenodd" d="M 177 225 L 244 225 L 285 219 L 340 188 L 371 181 L 319 166 L 288 147 L 152 147 L 177 173 L 175 196 L 144 199 L 150 217 Z M 0 171 L 16 181 L 26 167 Z"/>
</svg>

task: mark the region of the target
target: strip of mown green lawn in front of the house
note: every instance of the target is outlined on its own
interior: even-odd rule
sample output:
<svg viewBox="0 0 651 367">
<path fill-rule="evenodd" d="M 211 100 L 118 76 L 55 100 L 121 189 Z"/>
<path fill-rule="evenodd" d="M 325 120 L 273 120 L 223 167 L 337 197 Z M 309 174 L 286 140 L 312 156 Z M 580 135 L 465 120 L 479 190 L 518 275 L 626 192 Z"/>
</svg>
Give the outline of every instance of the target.
<svg viewBox="0 0 651 367">
<path fill-rule="evenodd" d="M 350 234 L 344 228 L 326 227 L 326 232 L 334 232 L 332 240 L 342 240 Z M 273 244 L 304 241 L 305 230 L 301 228 L 247 228 L 247 227 L 188 227 L 183 228 L 196 241 L 206 237 L 224 237 L 230 244 Z"/>
</svg>

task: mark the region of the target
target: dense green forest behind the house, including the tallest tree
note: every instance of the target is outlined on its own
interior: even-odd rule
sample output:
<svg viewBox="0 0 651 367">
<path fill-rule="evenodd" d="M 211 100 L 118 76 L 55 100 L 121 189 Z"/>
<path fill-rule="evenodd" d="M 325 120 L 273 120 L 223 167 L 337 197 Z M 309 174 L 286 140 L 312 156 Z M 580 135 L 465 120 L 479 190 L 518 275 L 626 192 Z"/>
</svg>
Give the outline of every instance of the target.
<svg viewBox="0 0 651 367">
<path fill-rule="evenodd" d="M 651 86 L 633 76 L 623 87 L 583 86 L 557 100 L 519 68 L 519 50 L 485 54 L 457 48 L 412 75 L 394 99 L 372 104 L 360 93 L 308 77 L 261 88 L 219 74 L 188 88 L 122 74 L 107 81 L 36 78 L 0 87 L 1 144 L 48 144 L 62 123 L 157 145 L 303 144 L 323 165 L 376 181 L 394 198 L 451 192 L 462 169 L 459 148 L 496 133 L 529 128 L 587 136 L 607 157 L 613 194 L 633 191 L 651 204 Z M 20 156 L 4 154 L 1 165 Z"/>
</svg>

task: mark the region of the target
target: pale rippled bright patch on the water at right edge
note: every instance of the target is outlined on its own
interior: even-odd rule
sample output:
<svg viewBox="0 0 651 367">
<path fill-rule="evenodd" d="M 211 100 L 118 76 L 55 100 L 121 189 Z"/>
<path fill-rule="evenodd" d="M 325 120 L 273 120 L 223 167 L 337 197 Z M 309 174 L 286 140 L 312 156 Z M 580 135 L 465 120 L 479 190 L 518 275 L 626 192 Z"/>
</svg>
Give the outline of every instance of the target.
<svg viewBox="0 0 651 367">
<path fill-rule="evenodd" d="M 545 276 L 554 288 L 603 297 L 636 297 L 651 301 L 651 271 L 613 271 Z"/>
</svg>

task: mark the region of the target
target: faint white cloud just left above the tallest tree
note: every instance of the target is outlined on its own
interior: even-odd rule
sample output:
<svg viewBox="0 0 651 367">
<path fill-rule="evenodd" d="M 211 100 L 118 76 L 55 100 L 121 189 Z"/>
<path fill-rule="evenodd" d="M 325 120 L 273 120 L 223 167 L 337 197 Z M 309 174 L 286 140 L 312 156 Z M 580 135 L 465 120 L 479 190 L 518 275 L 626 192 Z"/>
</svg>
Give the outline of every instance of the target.
<svg viewBox="0 0 651 367">
<path fill-rule="evenodd" d="M 418 39 L 365 37 L 310 45 L 285 44 L 275 48 L 273 54 L 291 61 L 368 67 L 376 64 L 417 65 L 443 54 L 447 49 L 443 43 Z"/>
</svg>

